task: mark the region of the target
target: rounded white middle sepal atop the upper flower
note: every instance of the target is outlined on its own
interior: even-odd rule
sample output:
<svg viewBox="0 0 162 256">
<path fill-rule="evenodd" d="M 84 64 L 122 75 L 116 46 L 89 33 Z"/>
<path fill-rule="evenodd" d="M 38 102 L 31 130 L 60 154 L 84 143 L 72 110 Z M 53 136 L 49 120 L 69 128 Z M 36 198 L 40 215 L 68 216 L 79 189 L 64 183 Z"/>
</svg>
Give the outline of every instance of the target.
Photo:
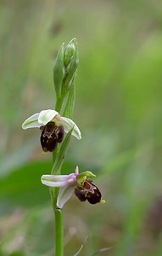
<svg viewBox="0 0 162 256">
<path fill-rule="evenodd" d="M 57 114 L 59 113 L 52 109 L 42 110 L 39 114 L 38 122 L 41 125 L 47 125 Z"/>
</svg>

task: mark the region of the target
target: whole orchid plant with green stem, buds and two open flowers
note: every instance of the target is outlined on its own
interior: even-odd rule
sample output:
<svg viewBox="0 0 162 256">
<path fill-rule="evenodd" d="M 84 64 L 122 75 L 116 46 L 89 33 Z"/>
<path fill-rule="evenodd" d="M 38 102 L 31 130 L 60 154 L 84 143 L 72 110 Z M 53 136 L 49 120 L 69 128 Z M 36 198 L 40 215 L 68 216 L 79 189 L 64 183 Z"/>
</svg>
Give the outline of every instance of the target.
<svg viewBox="0 0 162 256">
<path fill-rule="evenodd" d="M 97 186 L 92 183 L 92 172 L 75 172 L 68 175 L 61 173 L 61 167 L 70 143 L 70 137 L 81 140 L 81 131 L 70 119 L 75 106 L 75 82 L 78 66 L 78 49 L 76 39 L 62 46 L 53 67 L 53 83 L 56 93 L 55 110 L 42 110 L 34 113 L 22 124 L 24 130 L 39 128 L 41 130 L 41 145 L 44 152 L 53 154 L 51 174 L 41 177 L 42 184 L 50 189 L 50 195 L 55 215 L 55 255 L 64 255 L 64 204 L 75 194 L 80 201 L 91 204 L 103 203 L 102 195 Z M 63 116 L 62 116 L 63 114 Z M 77 254 L 78 255 L 78 254 Z"/>
</svg>

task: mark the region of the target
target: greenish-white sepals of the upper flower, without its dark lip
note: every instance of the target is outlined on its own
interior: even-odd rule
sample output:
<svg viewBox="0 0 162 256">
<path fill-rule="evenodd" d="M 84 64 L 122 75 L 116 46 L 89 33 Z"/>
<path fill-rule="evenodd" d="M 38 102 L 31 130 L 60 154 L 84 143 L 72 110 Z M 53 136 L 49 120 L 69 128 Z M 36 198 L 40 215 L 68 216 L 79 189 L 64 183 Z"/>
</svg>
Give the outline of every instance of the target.
<svg viewBox="0 0 162 256">
<path fill-rule="evenodd" d="M 78 126 L 75 125 L 75 122 L 69 118 L 62 117 L 53 109 L 42 110 L 40 113 L 34 113 L 31 117 L 25 120 L 22 124 L 22 128 L 24 130 L 29 128 L 42 129 L 42 126 L 47 125 L 50 121 L 54 122 L 56 125 L 62 125 L 65 133 L 68 133 L 73 128 L 71 134 L 78 140 L 81 140 L 81 131 Z"/>
</svg>

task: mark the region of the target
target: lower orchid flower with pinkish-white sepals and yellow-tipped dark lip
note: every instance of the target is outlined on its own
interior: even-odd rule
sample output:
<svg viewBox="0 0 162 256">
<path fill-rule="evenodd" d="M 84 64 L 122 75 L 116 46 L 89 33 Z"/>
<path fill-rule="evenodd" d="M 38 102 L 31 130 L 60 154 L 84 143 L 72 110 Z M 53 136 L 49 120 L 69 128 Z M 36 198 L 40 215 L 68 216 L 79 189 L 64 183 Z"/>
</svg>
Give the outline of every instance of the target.
<svg viewBox="0 0 162 256">
<path fill-rule="evenodd" d="M 64 207 L 73 193 L 80 201 L 87 200 L 91 204 L 105 202 L 101 200 L 100 190 L 88 177 L 95 177 L 95 175 L 88 171 L 79 174 L 79 168 L 76 166 L 74 173 L 69 175 L 42 175 L 41 181 L 49 187 L 60 188 L 57 198 L 57 207 L 59 208 Z"/>
</svg>

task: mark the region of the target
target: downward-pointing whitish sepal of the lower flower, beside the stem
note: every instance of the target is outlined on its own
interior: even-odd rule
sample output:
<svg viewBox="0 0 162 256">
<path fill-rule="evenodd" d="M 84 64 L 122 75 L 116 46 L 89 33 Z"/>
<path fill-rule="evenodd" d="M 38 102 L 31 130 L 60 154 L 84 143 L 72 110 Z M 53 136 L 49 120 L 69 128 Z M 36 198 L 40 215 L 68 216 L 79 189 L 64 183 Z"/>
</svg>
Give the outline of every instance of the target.
<svg viewBox="0 0 162 256">
<path fill-rule="evenodd" d="M 74 191 L 75 187 L 71 185 L 61 188 L 59 190 L 59 195 L 57 199 L 57 207 L 64 207 L 64 204 L 70 200 L 70 197 L 73 195 Z"/>
</svg>

